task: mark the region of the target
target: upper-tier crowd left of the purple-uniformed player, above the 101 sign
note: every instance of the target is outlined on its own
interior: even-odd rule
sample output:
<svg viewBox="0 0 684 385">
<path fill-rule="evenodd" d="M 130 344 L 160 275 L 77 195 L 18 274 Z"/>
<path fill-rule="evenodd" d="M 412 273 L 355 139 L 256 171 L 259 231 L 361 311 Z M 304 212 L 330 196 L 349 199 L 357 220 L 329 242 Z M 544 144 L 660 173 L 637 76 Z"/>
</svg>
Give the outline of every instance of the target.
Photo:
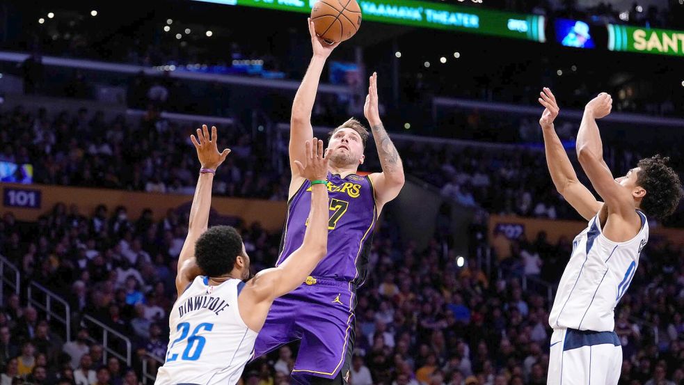
<svg viewBox="0 0 684 385">
<path fill-rule="evenodd" d="M 29 113 L 19 107 L 0 116 L 0 127 L 0 161 L 33 164 L 34 182 L 193 194 L 193 126 L 161 119 L 154 109 L 129 124 L 122 116 L 105 121 L 102 112 L 86 109 L 48 118 L 44 109 Z M 218 146 L 232 153 L 218 171 L 216 194 L 285 199 L 285 182 L 273 172 L 267 148 L 252 146 L 239 123 L 221 128 Z"/>
</svg>

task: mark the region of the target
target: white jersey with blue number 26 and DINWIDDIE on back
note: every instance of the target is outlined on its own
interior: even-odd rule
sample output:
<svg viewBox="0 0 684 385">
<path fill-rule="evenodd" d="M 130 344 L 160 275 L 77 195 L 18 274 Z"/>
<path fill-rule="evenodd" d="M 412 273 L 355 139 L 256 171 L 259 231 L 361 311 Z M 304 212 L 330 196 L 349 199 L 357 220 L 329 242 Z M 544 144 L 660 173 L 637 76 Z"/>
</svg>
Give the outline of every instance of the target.
<svg viewBox="0 0 684 385">
<path fill-rule="evenodd" d="M 252 356 L 257 333 L 237 306 L 239 279 L 209 285 L 198 276 L 173 305 L 166 361 L 157 385 L 237 384 Z"/>
</svg>

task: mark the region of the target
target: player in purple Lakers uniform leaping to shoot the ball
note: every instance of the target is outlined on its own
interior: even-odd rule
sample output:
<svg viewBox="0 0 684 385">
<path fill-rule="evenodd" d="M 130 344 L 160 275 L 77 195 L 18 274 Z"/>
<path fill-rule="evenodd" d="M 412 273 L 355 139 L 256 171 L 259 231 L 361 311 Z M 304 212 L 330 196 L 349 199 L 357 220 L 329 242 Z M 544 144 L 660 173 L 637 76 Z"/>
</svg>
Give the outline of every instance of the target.
<svg viewBox="0 0 684 385">
<path fill-rule="evenodd" d="M 292 105 L 289 159 L 292 181 L 289 209 L 276 266 L 292 258 L 308 227 L 306 210 L 310 182 L 295 162 L 305 155 L 302 143 L 313 136 L 310 118 L 326 58 L 337 44 L 319 38 L 309 21 L 313 57 Z M 342 384 L 349 380 L 354 340 L 356 290 L 366 276 L 372 232 L 383 205 L 404 186 L 404 169 L 378 110 L 377 75 L 370 77 L 364 114 L 372 129 L 383 172 L 357 175 L 363 164 L 368 132 L 350 119 L 333 129 L 326 156 L 330 219 L 328 256 L 305 284 L 273 301 L 264 329 L 257 338 L 255 357 L 280 345 L 301 340 L 292 375 L 303 384 Z"/>
</svg>

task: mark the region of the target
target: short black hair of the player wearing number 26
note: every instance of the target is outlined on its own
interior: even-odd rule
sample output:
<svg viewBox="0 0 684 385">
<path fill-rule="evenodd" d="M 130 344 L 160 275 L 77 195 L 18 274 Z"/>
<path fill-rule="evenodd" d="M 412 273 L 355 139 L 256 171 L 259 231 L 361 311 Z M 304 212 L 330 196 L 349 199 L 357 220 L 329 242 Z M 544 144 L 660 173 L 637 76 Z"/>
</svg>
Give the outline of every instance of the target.
<svg viewBox="0 0 684 385">
<path fill-rule="evenodd" d="M 230 273 L 237 256 L 242 256 L 242 237 L 231 226 L 214 226 L 195 244 L 197 265 L 207 276 Z"/>
</svg>

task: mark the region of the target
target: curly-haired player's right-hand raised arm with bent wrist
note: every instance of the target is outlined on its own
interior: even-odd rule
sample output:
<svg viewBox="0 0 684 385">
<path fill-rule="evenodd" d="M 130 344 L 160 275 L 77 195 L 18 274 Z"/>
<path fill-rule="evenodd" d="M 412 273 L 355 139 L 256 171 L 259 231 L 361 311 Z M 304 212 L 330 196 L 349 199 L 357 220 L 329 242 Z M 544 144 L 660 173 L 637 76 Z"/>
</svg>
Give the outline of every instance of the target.
<svg viewBox="0 0 684 385">
<path fill-rule="evenodd" d="M 623 214 L 628 219 L 639 219 L 634 210 L 630 191 L 624 189 L 614 178 L 603 160 L 603 143 L 596 119 L 607 116 L 612 109 L 612 97 L 601 93 L 584 108 L 584 116 L 577 136 L 577 157 L 584 173 L 591 180 L 598 195 L 607 204 L 609 213 Z"/>
</svg>

